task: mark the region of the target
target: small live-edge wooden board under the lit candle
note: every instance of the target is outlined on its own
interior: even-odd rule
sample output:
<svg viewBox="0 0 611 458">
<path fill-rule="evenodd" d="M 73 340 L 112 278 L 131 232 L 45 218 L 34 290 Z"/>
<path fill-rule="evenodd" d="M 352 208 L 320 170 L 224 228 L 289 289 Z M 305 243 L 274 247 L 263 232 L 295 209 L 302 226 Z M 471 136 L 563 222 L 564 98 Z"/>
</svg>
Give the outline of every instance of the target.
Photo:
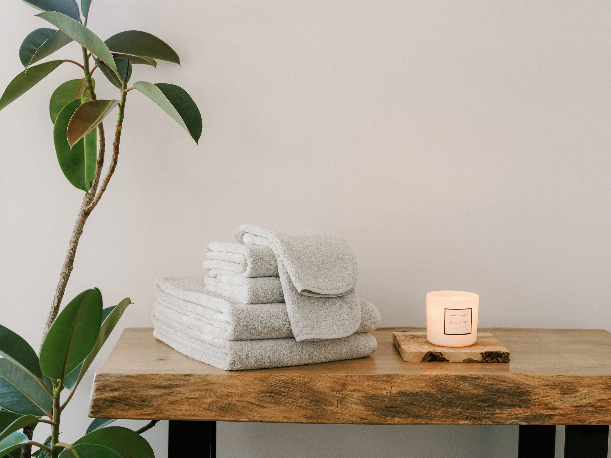
<svg viewBox="0 0 611 458">
<path fill-rule="evenodd" d="M 479 332 L 468 347 L 440 347 L 426 340 L 426 332 L 393 332 L 392 340 L 408 363 L 508 363 L 509 351 L 488 332 Z"/>
</svg>

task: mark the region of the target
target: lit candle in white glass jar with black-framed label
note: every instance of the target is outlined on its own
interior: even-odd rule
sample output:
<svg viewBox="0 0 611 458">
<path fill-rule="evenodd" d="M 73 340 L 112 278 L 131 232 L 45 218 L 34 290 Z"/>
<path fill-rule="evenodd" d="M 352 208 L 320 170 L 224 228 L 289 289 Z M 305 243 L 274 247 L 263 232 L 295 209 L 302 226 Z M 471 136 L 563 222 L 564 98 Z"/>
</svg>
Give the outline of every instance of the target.
<svg viewBox="0 0 611 458">
<path fill-rule="evenodd" d="M 480 296 L 466 291 L 426 293 L 426 339 L 444 347 L 466 347 L 477 340 Z"/>
</svg>

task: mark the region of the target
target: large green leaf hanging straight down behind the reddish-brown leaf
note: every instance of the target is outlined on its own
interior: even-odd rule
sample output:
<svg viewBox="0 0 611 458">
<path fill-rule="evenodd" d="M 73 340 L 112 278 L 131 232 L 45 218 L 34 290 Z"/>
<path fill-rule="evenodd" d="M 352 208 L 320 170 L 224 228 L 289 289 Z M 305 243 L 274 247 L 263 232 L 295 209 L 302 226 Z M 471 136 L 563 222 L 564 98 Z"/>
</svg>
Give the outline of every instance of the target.
<svg viewBox="0 0 611 458">
<path fill-rule="evenodd" d="M 57 154 L 57 162 L 70 183 L 82 191 L 88 192 L 95 175 L 97 160 L 97 131 L 90 132 L 79 140 L 72 148 L 68 144 L 68 123 L 83 100 L 78 98 L 68 103 L 59 112 L 53 127 L 53 142 Z M 44 370 L 43 370 L 44 373 Z"/>
</svg>

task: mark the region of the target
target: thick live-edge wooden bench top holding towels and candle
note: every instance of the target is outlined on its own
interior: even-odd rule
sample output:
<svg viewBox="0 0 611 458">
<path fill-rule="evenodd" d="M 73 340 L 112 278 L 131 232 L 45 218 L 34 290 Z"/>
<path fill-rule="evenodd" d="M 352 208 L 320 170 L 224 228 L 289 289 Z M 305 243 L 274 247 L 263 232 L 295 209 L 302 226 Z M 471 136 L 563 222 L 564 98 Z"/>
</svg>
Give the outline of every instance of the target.
<svg viewBox="0 0 611 458">
<path fill-rule="evenodd" d="M 511 363 L 406 363 L 393 331 L 367 358 L 227 372 L 125 329 L 93 383 L 89 415 L 353 424 L 611 424 L 611 333 L 481 329 Z"/>
</svg>

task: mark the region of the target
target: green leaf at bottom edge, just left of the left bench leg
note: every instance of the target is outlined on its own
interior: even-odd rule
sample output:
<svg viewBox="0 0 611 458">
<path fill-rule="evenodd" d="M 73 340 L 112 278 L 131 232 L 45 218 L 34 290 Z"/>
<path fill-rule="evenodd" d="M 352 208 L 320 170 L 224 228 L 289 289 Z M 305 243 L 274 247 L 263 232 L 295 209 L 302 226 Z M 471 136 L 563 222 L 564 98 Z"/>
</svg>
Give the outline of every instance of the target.
<svg viewBox="0 0 611 458">
<path fill-rule="evenodd" d="M 77 444 L 106 445 L 120 455 L 130 458 L 155 458 L 153 449 L 147 440 L 137 432 L 123 426 L 108 426 L 84 435 Z"/>
</svg>

